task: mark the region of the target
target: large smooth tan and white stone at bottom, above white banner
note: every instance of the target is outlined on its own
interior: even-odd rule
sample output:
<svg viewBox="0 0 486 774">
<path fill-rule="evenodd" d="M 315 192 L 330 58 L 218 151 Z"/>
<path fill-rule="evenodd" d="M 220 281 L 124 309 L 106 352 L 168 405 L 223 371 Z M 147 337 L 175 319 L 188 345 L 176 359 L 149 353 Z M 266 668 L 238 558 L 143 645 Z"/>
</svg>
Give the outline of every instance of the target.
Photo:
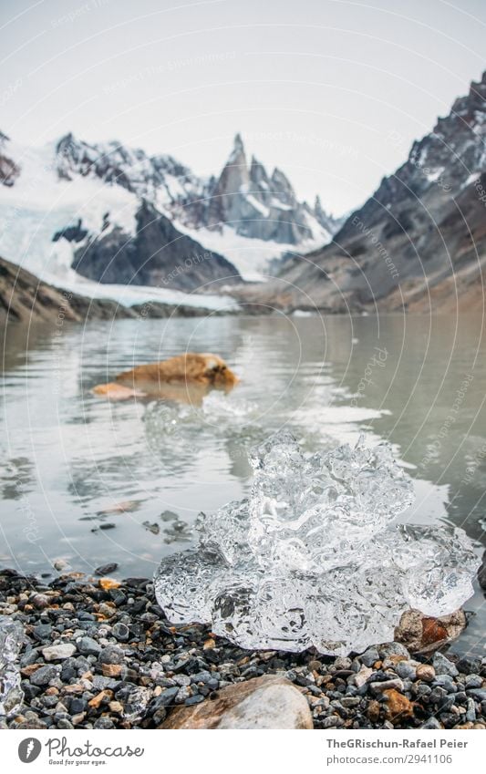
<svg viewBox="0 0 486 774">
<path fill-rule="evenodd" d="M 177 707 L 159 728 L 313 728 L 305 697 L 284 677 L 254 677 L 218 697 Z"/>
</svg>

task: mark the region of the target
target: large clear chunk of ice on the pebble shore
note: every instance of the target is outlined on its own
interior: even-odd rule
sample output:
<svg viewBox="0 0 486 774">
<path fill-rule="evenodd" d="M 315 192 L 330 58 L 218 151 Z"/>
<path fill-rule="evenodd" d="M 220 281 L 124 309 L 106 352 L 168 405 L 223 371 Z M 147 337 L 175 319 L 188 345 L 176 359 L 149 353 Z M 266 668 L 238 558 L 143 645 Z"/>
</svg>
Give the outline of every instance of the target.
<svg viewBox="0 0 486 774">
<path fill-rule="evenodd" d="M 472 543 L 449 526 L 391 523 L 413 485 L 388 444 L 306 456 L 288 432 L 253 449 L 250 497 L 201 514 L 196 550 L 155 574 L 173 624 L 245 648 L 361 652 L 410 607 L 452 613 L 472 594 Z"/>
</svg>

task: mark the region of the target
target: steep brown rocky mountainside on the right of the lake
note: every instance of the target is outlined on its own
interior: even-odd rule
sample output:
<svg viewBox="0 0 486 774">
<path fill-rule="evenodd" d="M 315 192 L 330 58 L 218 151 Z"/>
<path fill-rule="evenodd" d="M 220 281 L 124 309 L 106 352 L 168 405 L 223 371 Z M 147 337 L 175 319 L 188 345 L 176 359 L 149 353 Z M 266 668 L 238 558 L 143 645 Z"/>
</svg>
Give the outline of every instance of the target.
<svg viewBox="0 0 486 774">
<path fill-rule="evenodd" d="M 486 73 L 324 249 L 287 263 L 274 301 L 329 311 L 483 304 Z M 299 290 L 289 292 L 290 284 Z"/>
</svg>

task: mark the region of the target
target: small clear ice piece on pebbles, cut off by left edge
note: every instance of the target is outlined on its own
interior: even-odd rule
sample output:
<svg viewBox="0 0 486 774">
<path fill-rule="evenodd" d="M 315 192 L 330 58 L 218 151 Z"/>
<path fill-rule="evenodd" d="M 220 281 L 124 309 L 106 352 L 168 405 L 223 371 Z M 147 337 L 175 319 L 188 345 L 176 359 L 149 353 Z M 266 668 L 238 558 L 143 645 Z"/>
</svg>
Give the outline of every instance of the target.
<svg viewBox="0 0 486 774">
<path fill-rule="evenodd" d="M 24 627 L 11 615 L 0 615 L 0 715 L 13 715 L 24 701 L 18 655 Z"/>
</svg>

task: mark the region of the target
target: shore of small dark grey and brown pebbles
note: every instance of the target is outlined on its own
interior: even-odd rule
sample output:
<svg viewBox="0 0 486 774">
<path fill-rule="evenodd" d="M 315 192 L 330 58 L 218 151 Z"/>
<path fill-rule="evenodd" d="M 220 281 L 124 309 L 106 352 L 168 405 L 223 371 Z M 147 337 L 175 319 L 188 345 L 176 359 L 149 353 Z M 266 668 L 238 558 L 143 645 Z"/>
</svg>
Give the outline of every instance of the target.
<svg viewBox="0 0 486 774">
<path fill-rule="evenodd" d="M 26 632 L 24 705 L 0 728 L 158 728 L 172 707 L 264 675 L 302 692 L 314 728 L 486 728 L 486 658 L 426 661 L 398 643 L 354 658 L 245 651 L 202 625 L 171 626 L 142 578 L 0 571 L 0 614 Z"/>
</svg>

